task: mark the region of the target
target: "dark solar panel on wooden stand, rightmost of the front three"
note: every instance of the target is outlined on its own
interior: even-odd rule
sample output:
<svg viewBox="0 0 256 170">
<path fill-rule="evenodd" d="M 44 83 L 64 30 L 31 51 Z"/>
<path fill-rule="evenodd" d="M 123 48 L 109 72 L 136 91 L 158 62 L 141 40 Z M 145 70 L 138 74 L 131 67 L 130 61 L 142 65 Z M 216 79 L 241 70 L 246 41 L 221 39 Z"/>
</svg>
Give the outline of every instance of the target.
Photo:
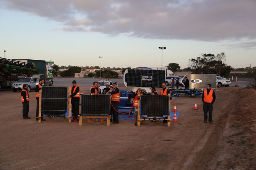
<svg viewBox="0 0 256 170">
<path fill-rule="evenodd" d="M 143 95 L 140 101 L 140 114 L 147 118 L 169 116 L 168 95 Z"/>
</svg>

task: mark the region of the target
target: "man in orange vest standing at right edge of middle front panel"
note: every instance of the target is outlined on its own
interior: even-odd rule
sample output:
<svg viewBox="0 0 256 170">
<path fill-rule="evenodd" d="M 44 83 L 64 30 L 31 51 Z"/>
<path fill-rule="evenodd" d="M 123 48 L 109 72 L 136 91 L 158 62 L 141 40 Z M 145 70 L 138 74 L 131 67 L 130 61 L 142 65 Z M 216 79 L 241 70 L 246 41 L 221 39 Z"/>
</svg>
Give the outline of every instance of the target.
<svg viewBox="0 0 256 170">
<path fill-rule="evenodd" d="M 118 124 L 118 105 L 120 102 L 120 92 L 117 88 L 117 83 L 113 83 L 113 91 L 109 91 L 109 94 L 111 94 L 111 107 L 113 109 L 113 124 Z"/>
</svg>

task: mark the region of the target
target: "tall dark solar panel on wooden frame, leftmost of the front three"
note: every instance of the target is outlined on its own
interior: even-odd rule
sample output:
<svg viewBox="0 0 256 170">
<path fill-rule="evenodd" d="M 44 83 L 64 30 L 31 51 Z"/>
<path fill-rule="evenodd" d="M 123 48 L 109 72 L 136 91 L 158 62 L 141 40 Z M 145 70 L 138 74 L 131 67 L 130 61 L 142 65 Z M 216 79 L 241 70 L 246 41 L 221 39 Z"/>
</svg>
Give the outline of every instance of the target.
<svg viewBox="0 0 256 170">
<path fill-rule="evenodd" d="M 43 87 L 41 111 L 45 116 L 65 116 L 67 87 Z"/>
</svg>

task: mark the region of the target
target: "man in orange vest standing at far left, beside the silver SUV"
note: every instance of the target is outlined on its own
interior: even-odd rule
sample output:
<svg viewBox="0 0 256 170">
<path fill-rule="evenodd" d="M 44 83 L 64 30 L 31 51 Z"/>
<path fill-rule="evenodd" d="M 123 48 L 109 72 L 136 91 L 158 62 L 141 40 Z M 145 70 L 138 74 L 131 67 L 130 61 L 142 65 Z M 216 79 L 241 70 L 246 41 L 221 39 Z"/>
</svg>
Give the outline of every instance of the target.
<svg viewBox="0 0 256 170">
<path fill-rule="evenodd" d="M 22 114 L 23 114 L 23 119 L 30 119 L 28 117 L 28 112 L 29 112 L 29 94 L 28 94 L 28 84 L 23 84 L 23 89 L 21 91 L 21 102 L 22 102 Z"/>
</svg>

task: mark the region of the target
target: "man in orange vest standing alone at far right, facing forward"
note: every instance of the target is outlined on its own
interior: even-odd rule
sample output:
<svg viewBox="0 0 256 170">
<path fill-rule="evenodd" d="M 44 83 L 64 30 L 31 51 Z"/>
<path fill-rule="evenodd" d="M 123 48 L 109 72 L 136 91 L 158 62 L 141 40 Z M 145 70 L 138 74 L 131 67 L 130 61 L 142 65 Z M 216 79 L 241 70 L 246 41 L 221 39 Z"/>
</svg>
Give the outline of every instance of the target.
<svg viewBox="0 0 256 170">
<path fill-rule="evenodd" d="M 209 122 L 212 123 L 212 110 L 213 103 L 215 102 L 216 95 L 215 92 L 211 89 L 212 85 L 207 84 L 206 89 L 204 89 L 202 100 L 203 100 L 203 109 L 204 109 L 204 123 L 207 123 L 207 112 L 209 112 Z"/>
</svg>

